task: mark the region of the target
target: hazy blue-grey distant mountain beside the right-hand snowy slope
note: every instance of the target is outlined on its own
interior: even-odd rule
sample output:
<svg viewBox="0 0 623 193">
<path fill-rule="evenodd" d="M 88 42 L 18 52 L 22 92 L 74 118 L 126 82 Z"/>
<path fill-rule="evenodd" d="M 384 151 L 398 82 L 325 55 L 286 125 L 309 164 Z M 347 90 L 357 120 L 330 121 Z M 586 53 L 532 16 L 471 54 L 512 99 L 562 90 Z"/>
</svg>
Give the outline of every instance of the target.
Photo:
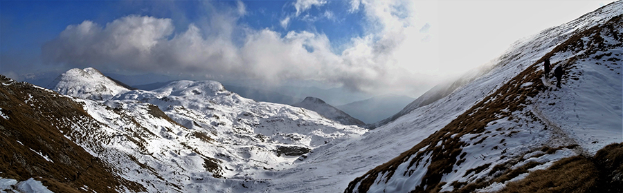
<svg viewBox="0 0 623 193">
<path fill-rule="evenodd" d="M 387 94 L 374 96 L 363 101 L 339 105 L 336 108 L 343 110 L 365 123 L 375 123 L 399 112 L 411 101 L 413 101 L 413 98 L 409 96 Z"/>
</svg>

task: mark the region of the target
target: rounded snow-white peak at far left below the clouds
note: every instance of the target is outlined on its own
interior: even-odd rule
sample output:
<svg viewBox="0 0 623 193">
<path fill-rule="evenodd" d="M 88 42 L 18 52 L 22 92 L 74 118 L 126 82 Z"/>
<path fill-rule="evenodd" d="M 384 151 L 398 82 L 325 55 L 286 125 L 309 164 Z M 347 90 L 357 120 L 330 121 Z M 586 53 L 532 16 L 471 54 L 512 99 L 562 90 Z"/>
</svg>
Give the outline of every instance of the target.
<svg viewBox="0 0 623 193">
<path fill-rule="evenodd" d="M 73 68 L 57 77 L 52 90 L 81 99 L 108 100 L 129 91 L 95 68 Z"/>
</svg>

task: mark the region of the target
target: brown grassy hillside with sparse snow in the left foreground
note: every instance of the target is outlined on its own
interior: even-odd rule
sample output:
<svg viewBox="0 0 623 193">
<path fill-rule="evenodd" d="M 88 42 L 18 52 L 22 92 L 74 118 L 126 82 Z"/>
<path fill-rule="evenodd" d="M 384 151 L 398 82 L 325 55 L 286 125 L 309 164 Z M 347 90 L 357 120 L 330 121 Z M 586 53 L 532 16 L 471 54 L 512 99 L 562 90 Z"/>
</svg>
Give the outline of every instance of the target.
<svg viewBox="0 0 623 193">
<path fill-rule="evenodd" d="M 0 81 L 1 178 L 34 178 L 53 192 L 145 190 L 73 142 L 80 140 L 77 125 L 98 124 L 80 103 L 1 75 Z"/>
</svg>

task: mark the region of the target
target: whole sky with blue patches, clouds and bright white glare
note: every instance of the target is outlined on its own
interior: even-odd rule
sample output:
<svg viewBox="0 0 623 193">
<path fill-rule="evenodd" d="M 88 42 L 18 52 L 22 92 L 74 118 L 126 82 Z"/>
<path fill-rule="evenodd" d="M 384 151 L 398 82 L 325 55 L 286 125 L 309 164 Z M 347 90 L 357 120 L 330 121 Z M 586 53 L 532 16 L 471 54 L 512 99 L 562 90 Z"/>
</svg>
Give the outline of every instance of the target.
<svg viewBox="0 0 623 193">
<path fill-rule="evenodd" d="M 0 74 L 93 67 L 417 97 L 612 1 L 0 1 Z"/>
</svg>

